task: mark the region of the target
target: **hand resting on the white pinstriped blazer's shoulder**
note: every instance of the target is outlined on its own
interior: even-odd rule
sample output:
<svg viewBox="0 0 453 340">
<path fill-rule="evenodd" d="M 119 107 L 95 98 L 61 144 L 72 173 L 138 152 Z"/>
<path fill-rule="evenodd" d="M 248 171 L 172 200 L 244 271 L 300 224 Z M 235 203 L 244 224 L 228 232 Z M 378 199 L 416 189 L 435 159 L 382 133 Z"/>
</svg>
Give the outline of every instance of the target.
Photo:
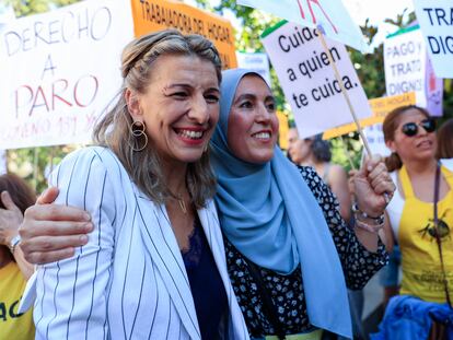
<svg viewBox="0 0 453 340">
<path fill-rule="evenodd" d="M 93 224 L 88 212 L 74 207 L 54 204 L 57 188 L 42 194 L 25 211 L 19 228 L 20 247 L 31 263 L 48 263 L 73 256 L 74 248 L 88 243 Z"/>
</svg>

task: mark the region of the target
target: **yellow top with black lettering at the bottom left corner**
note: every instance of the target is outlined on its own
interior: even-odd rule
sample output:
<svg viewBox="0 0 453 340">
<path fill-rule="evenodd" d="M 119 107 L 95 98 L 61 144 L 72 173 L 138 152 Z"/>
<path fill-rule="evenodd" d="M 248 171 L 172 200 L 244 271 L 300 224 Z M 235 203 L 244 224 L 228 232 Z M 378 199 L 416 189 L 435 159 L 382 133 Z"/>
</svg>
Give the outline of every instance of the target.
<svg viewBox="0 0 453 340">
<path fill-rule="evenodd" d="M 26 281 L 18 265 L 11 261 L 0 268 L 0 339 L 35 339 L 33 310 L 19 314 L 19 302 Z"/>
</svg>

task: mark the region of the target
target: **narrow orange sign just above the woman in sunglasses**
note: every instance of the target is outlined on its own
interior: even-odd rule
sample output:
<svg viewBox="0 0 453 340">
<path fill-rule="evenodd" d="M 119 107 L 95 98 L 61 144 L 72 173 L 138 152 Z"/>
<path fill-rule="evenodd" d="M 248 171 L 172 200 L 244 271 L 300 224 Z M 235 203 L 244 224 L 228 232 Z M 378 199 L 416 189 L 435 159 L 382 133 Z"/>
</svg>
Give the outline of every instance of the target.
<svg viewBox="0 0 453 340">
<path fill-rule="evenodd" d="M 372 126 L 379 122 L 383 122 L 385 116 L 398 106 L 415 105 L 416 95 L 415 92 L 408 92 L 405 94 L 394 95 L 390 97 L 370 99 L 370 107 L 373 113 L 372 117 L 363 118 L 360 120 L 361 127 Z M 323 139 L 330 139 L 338 136 L 342 136 L 349 132 L 357 131 L 356 124 L 347 124 L 337 128 L 327 130 L 323 134 Z"/>
</svg>

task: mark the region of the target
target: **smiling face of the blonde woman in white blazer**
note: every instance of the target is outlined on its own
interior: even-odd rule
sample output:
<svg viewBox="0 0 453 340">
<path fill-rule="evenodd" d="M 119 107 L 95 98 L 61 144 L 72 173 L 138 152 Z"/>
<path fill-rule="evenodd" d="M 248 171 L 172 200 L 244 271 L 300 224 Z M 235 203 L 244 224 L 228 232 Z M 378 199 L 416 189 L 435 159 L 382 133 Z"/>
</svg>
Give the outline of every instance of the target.
<svg viewBox="0 0 453 340">
<path fill-rule="evenodd" d="M 163 161 L 190 163 L 201 157 L 219 120 L 219 81 L 214 66 L 198 57 L 155 60 L 146 93 L 137 95 L 135 120 Z M 133 105 L 132 105 L 133 107 Z"/>
</svg>

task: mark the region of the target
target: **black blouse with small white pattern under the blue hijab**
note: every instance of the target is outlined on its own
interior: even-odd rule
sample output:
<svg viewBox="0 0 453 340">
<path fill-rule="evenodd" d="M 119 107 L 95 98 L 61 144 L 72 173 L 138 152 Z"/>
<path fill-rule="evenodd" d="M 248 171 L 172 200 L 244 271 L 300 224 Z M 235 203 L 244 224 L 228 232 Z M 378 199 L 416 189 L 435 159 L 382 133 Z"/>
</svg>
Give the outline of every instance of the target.
<svg viewBox="0 0 453 340">
<path fill-rule="evenodd" d="M 312 167 L 299 167 L 303 179 L 313 191 L 329 226 L 337 247 L 349 289 L 360 290 L 368 280 L 387 261 L 384 245 L 380 242 L 375 254 L 369 253 L 356 238 L 339 214 L 338 202 L 326 184 Z M 248 272 L 244 256 L 224 237 L 230 278 L 239 304 L 244 314 L 252 337 L 275 335 L 272 325 L 263 313 L 263 302 L 256 282 Z M 289 275 L 281 275 L 260 268 L 266 288 L 270 292 L 281 325 L 286 333 L 309 330 L 310 325 L 300 266 Z"/>
</svg>

